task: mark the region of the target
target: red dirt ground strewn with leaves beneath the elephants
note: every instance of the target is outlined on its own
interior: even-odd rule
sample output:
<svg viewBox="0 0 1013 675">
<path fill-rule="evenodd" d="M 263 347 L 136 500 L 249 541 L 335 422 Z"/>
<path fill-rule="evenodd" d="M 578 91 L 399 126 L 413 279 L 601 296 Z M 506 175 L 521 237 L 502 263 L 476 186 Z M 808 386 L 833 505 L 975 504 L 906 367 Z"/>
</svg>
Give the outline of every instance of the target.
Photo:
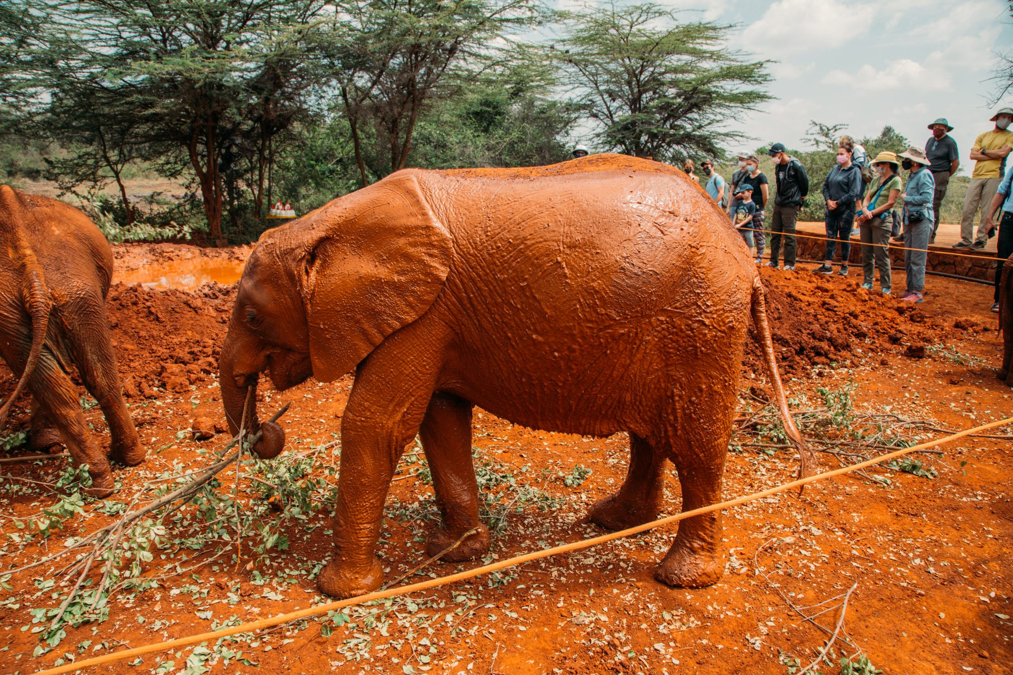
<svg viewBox="0 0 1013 675">
<path fill-rule="evenodd" d="M 216 266 L 238 269 L 249 249 L 125 245 L 114 250 L 118 275 L 147 267 L 142 273 L 156 278 L 160 265 L 170 269 L 178 261 L 215 268 L 214 273 Z M 769 269 L 763 276 L 782 374 L 799 408 L 822 406 L 821 388 L 839 391 L 852 384 L 857 412 L 888 411 L 940 428 L 962 429 L 1013 411 L 1010 389 L 994 375 L 1001 343 L 995 315 L 988 312 L 990 286 L 929 277 L 926 303 L 910 306 L 868 293 L 853 279 Z M 898 272 L 893 286 L 903 287 L 903 273 Z M 225 434 L 192 441 L 186 430 L 194 419 L 224 421 L 216 363 L 233 297 L 233 286 L 217 283 L 192 291 L 113 286 L 107 305 L 121 373 L 149 457 L 140 467 L 115 471 L 126 487 L 109 500 L 129 502 L 141 484 L 165 472 L 203 466 L 205 450 L 225 444 Z M 766 398 L 759 354 L 755 344 L 748 345 L 744 416 L 757 409 L 750 393 Z M 310 381 L 281 394 L 262 388 L 265 415 L 292 403 L 282 421 L 287 453 L 334 439 L 350 385 L 345 377 L 327 385 Z M 0 366 L 0 397 L 12 389 L 10 372 Z M 26 400 L 15 407 L 4 433 L 24 427 L 26 407 Z M 96 432 L 104 434 L 101 416 L 95 411 L 88 416 Z M 1011 431 L 1003 427 L 991 433 Z M 924 428 L 907 432 L 917 440 L 942 435 Z M 733 443 L 755 440 L 736 433 Z M 624 434 L 596 439 L 534 431 L 476 411 L 474 444 L 482 455 L 511 473 L 519 486 L 558 498 L 558 505 L 545 511 L 529 504 L 511 512 L 490 557 L 502 560 L 601 533 L 583 516 L 591 503 L 621 483 L 627 442 Z M 796 461 L 791 453 L 768 455 L 763 449 L 747 445 L 729 453 L 726 498 L 792 479 Z M 808 664 L 826 635 L 787 601 L 815 614 L 840 599 L 817 603 L 857 582 L 847 610 L 845 630 L 852 646 L 843 648 L 846 654 L 861 649 L 886 673 L 1011 672 L 1013 584 L 1003 542 L 1013 534 L 1013 445 L 1008 439 L 964 438 L 941 449 L 941 456 L 915 455 L 938 472 L 934 479 L 878 468 L 876 475 L 888 479 L 888 487 L 842 477 L 810 487 L 801 497 L 778 495 L 727 511 L 728 566 L 710 588 L 673 589 L 652 579 L 652 566 L 674 534 L 673 528 L 663 528 L 532 563 L 497 580 L 479 578 L 397 599 L 386 609 L 349 611 L 356 626 L 335 627 L 329 637 L 321 634 L 320 621 L 310 620 L 241 636 L 226 647 L 242 651 L 265 672 L 788 673 L 782 659 L 791 655 Z M 324 461 L 336 465 L 338 452 L 330 447 Z M 820 460 L 823 469 L 839 466 L 830 454 Z M 56 501 L 48 487 L 25 480 L 52 482 L 65 461 L 0 466 L 5 475 L 0 484 L 3 569 L 58 551 L 67 537 L 110 522 L 99 510 L 102 502 L 89 501 L 83 514 L 48 541 L 19 543 L 24 530 L 15 521 L 30 520 Z M 402 459 L 388 497 L 380 552 L 389 579 L 424 557 L 428 525 L 422 517 L 433 510 L 433 494 L 414 473 L 419 461 Z M 592 474 L 579 486 L 566 487 L 562 477 L 576 465 Z M 315 475 L 335 481 L 322 469 Z M 234 481 L 231 472 L 222 477 L 225 486 Z M 244 490 L 247 486 L 244 478 Z M 666 513 L 678 511 L 679 495 L 678 481 L 670 476 Z M 322 601 L 310 576 L 328 555 L 326 509 L 285 527 L 287 552 L 276 551 L 253 566 L 247 565 L 251 559 L 244 549 L 239 565 L 224 564 L 228 558 L 208 560 L 204 567 L 160 579 L 156 588 L 120 591 L 110 601 L 108 619 L 68 628 L 56 650 L 38 657 L 32 657 L 38 643 L 31 632 L 38 624 L 32 624 L 29 610 L 59 605 L 59 595 L 54 599 L 55 589 L 46 588 L 44 580 L 57 578 L 54 572 L 69 559 L 15 575 L 7 582 L 10 589 L 0 590 L 0 672 L 33 672 L 70 658 L 65 653 L 87 658 L 209 630 L 230 617 L 252 620 Z M 166 538 L 172 528 L 166 524 Z M 163 575 L 166 563 L 194 553 L 152 551 L 155 560 L 144 572 L 149 577 Z M 184 567 L 210 558 L 200 556 Z M 435 563 L 413 579 L 477 564 Z M 814 620 L 833 629 L 839 611 Z M 187 658 L 196 667 L 184 671 Z M 95 672 L 253 670 L 236 661 L 206 660 L 201 665 L 190 648 Z"/>
</svg>

